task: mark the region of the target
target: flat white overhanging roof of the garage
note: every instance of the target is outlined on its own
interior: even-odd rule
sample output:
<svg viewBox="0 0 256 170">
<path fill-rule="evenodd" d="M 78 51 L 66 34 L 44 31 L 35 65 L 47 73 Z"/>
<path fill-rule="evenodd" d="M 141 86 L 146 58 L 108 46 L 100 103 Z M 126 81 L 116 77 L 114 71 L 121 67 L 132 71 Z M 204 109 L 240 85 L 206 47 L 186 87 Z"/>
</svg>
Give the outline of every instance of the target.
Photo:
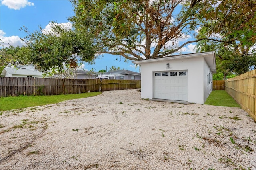
<svg viewBox="0 0 256 170">
<path fill-rule="evenodd" d="M 216 61 L 215 61 L 215 51 L 204 52 L 204 53 L 190 53 L 190 54 L 182 54 L 182 55 L 172 55 L 168 57 L 154 58 L 154 59 L 146 59 L 133 61 L 134 64 L 142 64 L 142 63 L 152 63 L 157 61 L 165 61 L 165 60 L 177 60 L 177 59 L 189 59 L 195 57 L 204 57 L 208 66 L 212 72 L 216 72 Z"/>
</svg>

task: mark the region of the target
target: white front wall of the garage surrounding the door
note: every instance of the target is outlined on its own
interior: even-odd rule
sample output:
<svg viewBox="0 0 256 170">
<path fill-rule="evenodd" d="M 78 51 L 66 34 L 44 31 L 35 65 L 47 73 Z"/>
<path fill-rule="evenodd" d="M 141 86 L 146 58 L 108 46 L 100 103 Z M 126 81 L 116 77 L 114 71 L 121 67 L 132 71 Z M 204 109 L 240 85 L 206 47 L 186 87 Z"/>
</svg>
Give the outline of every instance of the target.
<svg viewBox="0 0 256 170">
<path fill-rule="evenodd" d="M 166 68 L 166 64 L 170 69 Z M 204 103 L 204 57 L 141 63 L 141 98 L 154 98 L 153 72 L 187 70 L 188 102 Z"/>
</svg>

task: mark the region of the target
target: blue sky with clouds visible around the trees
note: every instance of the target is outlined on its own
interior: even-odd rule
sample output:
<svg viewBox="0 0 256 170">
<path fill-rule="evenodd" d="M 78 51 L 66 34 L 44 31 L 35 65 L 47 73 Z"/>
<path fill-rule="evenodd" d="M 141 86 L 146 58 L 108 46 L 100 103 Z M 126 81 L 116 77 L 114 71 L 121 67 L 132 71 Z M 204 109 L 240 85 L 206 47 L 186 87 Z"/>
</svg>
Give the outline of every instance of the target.
<svg viewBox="0 0 256 170">
<path fill-rule="evenodd" d="M 46 28 L 50 21 L 57 23 L 68 22 L 68 17 L 74 15 L 73 6 L 68 0 L 0 0 L 0 39 L 5 47 L 8 44 L 22 46 L 20 38 L 26 33 L 20 28 L 28 28 L 29 31 L 39 29 L 38 26 Z M 184 48 L 183 53 L 193 53 L 194 44 Z M 84 69 L 94 71 L 110 68 L 111 66 L 121 69 L 139 72 L 135 69 L 132 61 L 124 62 L 123 57 L 104 55 L 96 59 L 94 65 L 84 64 Z"/>
</svg>

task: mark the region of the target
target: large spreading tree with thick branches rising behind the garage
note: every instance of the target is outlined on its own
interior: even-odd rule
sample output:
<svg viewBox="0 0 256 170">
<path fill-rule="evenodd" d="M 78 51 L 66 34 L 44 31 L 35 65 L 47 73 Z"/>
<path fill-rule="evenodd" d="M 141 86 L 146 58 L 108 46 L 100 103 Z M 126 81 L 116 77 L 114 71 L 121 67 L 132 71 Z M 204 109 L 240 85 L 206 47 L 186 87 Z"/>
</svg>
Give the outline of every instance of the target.
<svg viewBox="0 0 256 170">
<path fill-rule="evenodd" d="M 76 30 L 94 35 L 96 53 L 130 60 L 164 57 L 200 39 L 178 40 L 200 25 L 199 1 L 183 0 L 72 0 Z M 193 25 L 192 25 L 193 23 Z"/>
</svg>

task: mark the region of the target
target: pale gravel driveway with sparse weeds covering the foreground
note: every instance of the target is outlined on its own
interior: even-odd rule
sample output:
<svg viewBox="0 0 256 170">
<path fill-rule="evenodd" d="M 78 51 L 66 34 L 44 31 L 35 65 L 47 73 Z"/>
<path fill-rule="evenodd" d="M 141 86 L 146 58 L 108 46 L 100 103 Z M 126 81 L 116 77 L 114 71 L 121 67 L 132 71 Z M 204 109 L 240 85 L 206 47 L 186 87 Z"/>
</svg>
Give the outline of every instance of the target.
<svg viewBox="0 0 256 170">
<path fill-rule="evenodd" d="M 0 169 L 256 170 L 256 123 L 236 107 L 116 90 L 0 115 Z"/>
</svg>

